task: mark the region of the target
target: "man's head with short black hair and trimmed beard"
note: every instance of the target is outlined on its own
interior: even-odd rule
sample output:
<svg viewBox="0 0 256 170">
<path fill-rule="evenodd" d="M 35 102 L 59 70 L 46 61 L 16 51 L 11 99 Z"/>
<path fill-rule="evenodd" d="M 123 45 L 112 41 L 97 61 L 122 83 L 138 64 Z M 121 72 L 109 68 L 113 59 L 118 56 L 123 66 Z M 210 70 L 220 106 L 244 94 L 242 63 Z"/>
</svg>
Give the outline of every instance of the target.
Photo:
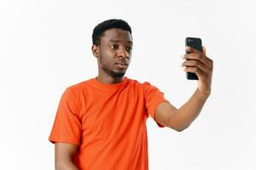
<svg viewBox="0 0 256 170">
<path fill-rule="evenodd" d="M 124 77 L 131 60 L 131 27 L 125 20 L 105 20 L 92 34 L 92 53 L 101 76 Z"/>
</svg>

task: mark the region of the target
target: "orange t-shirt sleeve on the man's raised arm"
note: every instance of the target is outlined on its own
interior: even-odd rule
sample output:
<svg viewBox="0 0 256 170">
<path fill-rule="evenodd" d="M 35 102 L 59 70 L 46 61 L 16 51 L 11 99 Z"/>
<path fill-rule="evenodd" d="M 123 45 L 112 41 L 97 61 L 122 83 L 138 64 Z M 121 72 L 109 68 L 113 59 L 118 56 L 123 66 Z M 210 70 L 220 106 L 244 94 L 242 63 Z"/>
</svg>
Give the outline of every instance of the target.
<svg viewBox="0 0 256 170">
<path fill-rule="evenodd" d="M 168 100 L 165 99 L 164 93 L 160 92 L 158 88 L 154 87 L 149 82 L 144 82 L 143 87 L 144 87 L 145 102 L 146 102 L 148 115 L 150 115 L 155 121 L 154 114 L 155 114 L 156 107 L 160 105 L 160 103 L 162 102 L 168 102 Z M 165 127 L 159 122 L 156 122 L 156 123 L 159 127 Z"/>
</svg>

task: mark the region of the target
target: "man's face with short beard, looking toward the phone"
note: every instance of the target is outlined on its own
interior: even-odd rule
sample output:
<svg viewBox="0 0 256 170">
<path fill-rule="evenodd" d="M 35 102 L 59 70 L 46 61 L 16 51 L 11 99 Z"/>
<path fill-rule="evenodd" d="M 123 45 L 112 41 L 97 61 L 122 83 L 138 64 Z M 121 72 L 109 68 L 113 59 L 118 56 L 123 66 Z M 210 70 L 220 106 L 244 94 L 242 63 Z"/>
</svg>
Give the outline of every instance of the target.
<svg viewBox="0 0 256 170">
<path fill-rule="evenodd" d="M 99 73 L 111 77 L 124 77 L 131 60 L 132 37 L 129 31 L 104 31 L 98 48 Z"/>
</svg>

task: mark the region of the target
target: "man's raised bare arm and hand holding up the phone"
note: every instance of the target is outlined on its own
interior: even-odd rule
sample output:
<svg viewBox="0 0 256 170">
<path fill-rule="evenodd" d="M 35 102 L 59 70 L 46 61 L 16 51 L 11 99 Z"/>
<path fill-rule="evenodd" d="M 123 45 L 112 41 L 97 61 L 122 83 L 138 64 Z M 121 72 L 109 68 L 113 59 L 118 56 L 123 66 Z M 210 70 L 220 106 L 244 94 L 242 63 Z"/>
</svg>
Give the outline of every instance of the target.
<svg viewBox="0 0 256 170">
<path fill-rule="evenodd" d="M 161 103 L 155 110 L 155 121 L 160 122 L 166 127 L 171 127 L 177 131 L 183 131 L 189 127 L 191 122 L 200 114 L 201 108 L 211 94 L 212 83 L 212 59 L 207 58 L 206 50 L 203 52 L 195 48 L 186 47 L 190 54 L 184 54 L 184 71 L 194 72 L 199 78 L 198 87 L 195 94 L 191 96 L 179 109 L 168 102 Z"/>
</svg>

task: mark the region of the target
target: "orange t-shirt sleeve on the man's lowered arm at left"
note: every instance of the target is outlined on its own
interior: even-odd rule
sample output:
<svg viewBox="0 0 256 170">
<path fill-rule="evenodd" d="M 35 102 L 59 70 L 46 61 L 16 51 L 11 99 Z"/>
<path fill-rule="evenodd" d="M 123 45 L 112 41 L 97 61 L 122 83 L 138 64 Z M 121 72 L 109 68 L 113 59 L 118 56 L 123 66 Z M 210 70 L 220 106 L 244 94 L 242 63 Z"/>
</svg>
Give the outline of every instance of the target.
<svg viewBox="0 0 256 170">
<path fill-rule="evenodd" d="M 49 141 L 79 145 L 82 132 L 79 115 L 79 108 L 72 89 L 66 88 L 61 95 Z"/>
</svg>

